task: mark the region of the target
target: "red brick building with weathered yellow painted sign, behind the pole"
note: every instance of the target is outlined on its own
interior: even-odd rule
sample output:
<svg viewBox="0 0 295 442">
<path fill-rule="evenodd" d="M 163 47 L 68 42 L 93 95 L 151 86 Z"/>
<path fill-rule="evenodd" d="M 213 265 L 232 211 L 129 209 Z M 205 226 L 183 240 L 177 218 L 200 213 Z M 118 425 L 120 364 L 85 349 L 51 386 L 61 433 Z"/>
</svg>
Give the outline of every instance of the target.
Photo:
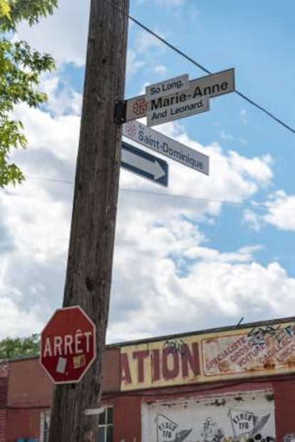
<svg viewBox="0 0 295 442">
<path fill-rule="evenodd" d="M 0 361 L 0 442 L 46 442 L 53 384 Z M 99 442 L 294 442 L 295 318 L 110 345 Z"/>
</svg>

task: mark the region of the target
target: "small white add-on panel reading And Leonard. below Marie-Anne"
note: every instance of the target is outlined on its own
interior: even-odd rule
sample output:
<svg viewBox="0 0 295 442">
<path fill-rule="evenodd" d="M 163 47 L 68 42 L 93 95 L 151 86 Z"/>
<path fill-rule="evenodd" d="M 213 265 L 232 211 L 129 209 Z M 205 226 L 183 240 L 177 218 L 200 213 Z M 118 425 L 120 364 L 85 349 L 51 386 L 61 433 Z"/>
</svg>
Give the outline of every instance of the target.
<svg viewBox="0 0 295 442">
<path fill-rule="evenodd" d="M 148 126 L 167 123 L 167 121 L 179 120 L 195 113 L 202 113 L 209 111 L 209 98 L 195 98 L 193 100 L 185 101 L 185 103 L 176 103 L 167 108 L 155 108 L 148 112 Z"/>
</svg>

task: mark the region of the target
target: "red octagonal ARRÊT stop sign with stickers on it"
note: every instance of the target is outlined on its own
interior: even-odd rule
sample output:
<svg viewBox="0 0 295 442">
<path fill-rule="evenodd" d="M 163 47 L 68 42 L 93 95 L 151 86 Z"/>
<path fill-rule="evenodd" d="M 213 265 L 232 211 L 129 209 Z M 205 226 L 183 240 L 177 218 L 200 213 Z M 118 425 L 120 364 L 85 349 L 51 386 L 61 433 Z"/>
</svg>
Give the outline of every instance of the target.
<svg viewBox="0 0 295 442">
<path fill-rule="evenodd" d="M 95 324 L 78 305 L 56 310 L 41 333 L 40 363 L 55 384 L 80 381 L 95 351 Z"/>
</svg>

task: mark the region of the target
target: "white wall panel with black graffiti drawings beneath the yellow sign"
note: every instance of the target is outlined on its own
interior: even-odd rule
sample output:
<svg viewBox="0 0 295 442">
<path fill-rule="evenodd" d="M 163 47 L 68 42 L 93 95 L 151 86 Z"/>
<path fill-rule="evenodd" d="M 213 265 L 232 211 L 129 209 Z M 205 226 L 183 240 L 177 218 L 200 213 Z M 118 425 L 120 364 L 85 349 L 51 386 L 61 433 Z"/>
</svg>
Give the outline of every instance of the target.
<svg viewBox="0 0 295 442">
<path fill-rule="evenodd" d="M 143 406 L 143 442 L 275 442 L 274 398 L 255 391 Z"/>
</svg>

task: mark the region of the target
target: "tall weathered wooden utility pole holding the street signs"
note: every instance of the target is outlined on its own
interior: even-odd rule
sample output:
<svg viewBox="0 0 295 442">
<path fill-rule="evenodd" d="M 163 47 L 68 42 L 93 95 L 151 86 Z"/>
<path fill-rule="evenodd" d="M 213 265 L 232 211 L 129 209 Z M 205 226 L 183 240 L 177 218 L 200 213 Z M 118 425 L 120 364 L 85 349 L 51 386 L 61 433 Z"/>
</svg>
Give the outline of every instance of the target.
<svg viewBox="0 0 295 442">
<path fill-rule="evenodd" d="M 98 408 L 101 394 L 120 172 L 121 128 L 113 116 L 124 98 L 128 8 L 129 0 L 90 4 L 63 307 L 78 304 L 95 323 L 97 359 L 78 384 L 56 387 L 49 442 L 97 442 L 98 415 L 85 410 Z"/>
</svg>

